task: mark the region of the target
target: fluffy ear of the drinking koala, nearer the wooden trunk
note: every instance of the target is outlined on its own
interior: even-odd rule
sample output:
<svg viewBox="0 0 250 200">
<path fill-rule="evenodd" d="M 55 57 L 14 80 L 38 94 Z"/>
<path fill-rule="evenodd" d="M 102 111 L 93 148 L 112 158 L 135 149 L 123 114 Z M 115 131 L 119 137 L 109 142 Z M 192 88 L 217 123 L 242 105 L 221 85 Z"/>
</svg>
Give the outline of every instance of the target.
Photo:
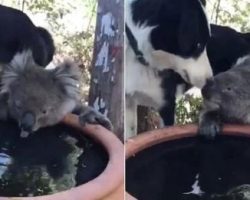
<svg viewBox="0 0 250 200">
<path fill-rule="evenodd" d="M 53 78 L 70 98 L 80 97 L 80 71 L 75 63 L 64 61 L 53 70 Z"/>
</svg>

